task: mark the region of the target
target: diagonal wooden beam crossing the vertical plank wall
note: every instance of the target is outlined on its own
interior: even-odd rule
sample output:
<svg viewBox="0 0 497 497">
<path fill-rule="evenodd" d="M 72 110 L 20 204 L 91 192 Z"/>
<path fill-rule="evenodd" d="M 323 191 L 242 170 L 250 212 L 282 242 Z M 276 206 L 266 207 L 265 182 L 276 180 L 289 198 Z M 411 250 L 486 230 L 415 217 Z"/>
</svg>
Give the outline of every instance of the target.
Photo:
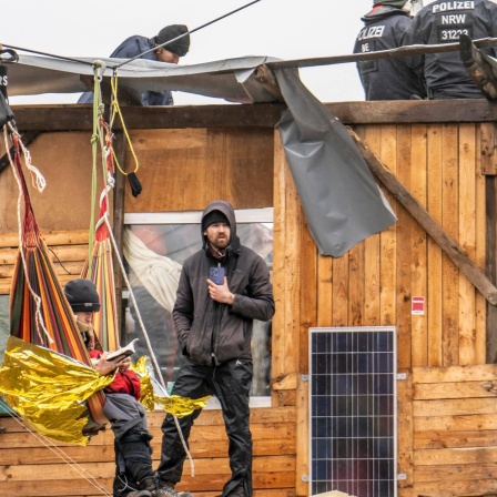
<svg viewBox="0 0 497 497">
<path fill-rule="evenodd" d="M 372 173 L 385 185 L 394 197 L 409 212 L 416 222 L 438 244 L 444 253 L 478 288 L 493 305 L 497 304 L 497 288 L 485 273 L 465 254 L 458 243 L 432 217 L 428 211 L 410 194 L 410 192 L 388 171 L 387 166 L 369 150 L 361 138 L 349 130 Z"/>
</svg>

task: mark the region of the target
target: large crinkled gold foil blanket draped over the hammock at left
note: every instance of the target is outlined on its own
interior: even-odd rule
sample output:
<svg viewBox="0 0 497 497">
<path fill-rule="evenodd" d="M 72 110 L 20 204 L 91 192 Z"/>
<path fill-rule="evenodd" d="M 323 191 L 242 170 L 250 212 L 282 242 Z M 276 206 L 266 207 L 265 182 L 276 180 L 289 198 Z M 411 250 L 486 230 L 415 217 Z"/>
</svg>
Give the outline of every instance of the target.
<svg viewBox="0 0 497 497">
<path fill-rule="evenodd" d="M 7 342 L 0 367 L 0 393 L 39 434 L 58 442 L 87 445 L 83 404 L 113 376 L 100 376 L 75 359 L 14 336 Z"/>
</svg>

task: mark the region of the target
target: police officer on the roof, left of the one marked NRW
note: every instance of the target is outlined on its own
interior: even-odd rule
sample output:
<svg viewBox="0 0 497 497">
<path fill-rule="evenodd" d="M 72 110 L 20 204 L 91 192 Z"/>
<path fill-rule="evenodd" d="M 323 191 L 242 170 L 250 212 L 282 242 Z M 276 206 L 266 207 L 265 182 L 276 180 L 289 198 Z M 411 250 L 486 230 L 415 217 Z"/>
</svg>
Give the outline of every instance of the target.
<svg viewBox="0 0 497 497">
<path fill-rule="evenodd" d="M 410 1 L 375 0 L 373 10 L 362 20 L 354 53 L 377 52 L 400 47 L 402 37 L 410 24 Z M 410 100 L 425 98 L 419 72 L 409 69 L 403 59 L 378 59 L 357 63 L 366 100 Z"/>
</svg>

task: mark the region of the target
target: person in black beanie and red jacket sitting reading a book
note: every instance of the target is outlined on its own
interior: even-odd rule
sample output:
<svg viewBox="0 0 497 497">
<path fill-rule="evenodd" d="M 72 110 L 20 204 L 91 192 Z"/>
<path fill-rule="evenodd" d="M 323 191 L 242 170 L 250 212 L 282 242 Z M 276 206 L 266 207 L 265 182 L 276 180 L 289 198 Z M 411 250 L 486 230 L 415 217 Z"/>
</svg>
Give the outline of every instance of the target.
<svg viewBox="0 0 497 497">
<path fill-rule="evenodd" d="M 145 408 L 140 404 L 140 377 L 130 369 L 131 359 L 106 361 L 94 334 L 93 313 L 100 311 L 100 298 L 90 280 L 72 280 L 64 287 L 69 305 L 83 335 L 90 358 L 101 375 L 115 375 L 104 389 L 103 414 L 114 433 L 115 477 L 114 497 L 174 497 L 159 488 L 152 469 L 152 450 Z"/>
</svg>

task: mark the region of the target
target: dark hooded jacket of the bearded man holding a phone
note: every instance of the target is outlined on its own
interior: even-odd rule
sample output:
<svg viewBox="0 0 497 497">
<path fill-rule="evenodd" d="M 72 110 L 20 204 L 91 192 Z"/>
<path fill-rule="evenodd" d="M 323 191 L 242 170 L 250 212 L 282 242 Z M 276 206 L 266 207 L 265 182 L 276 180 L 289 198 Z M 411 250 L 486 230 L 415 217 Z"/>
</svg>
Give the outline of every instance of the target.
<svg viewBox="0 0 497 497">
<path fill-rule="evenodd" d="M 233 305 L 211 298 L 206 280 L 210 267 L 217 266 L 203 247 L 183 264 L 173 318 L 183 354 L 196 364 L 220 364 L 233 358 L 251 358 L 253 320 L 268 321 L 274 314 L 273 288 L 270 271 L 263 258 L 240 244 L 236 221 L 227 202 L 214 201 L 205 209 L 202 219 L 212 211 L 221 211 L 231 227 L 227 256 L 222 265 L 230 291 L 235 295 Z"/>
</svg>

